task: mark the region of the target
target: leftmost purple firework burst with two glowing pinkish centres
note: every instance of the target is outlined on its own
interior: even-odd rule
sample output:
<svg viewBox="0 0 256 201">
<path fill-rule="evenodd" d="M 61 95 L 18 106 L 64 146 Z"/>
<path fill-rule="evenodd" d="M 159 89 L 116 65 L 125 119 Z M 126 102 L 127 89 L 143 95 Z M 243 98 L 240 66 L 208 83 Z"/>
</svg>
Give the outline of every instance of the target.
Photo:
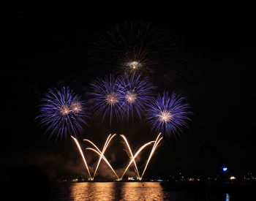
<svg viewBox="0 0 256 201">
<path fill-rule="evenodd" d="M 56 134 L 56 140 L 63 136 L 67 139 L 68 134 L 76 136 L 83 132 L 84 118 L 87 117 L 84 102 L 68 87 L 60 91 L 50 89 L 41 101 L 37 118 L 47 127 L 46 132 L 51 132 L 50 137 Z"/>
</svg>

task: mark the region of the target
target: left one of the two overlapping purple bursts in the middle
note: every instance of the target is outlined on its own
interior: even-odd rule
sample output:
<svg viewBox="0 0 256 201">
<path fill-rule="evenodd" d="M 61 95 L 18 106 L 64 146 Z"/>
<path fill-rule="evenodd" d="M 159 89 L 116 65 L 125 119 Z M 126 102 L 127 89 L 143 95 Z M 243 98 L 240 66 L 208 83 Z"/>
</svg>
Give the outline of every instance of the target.
<svg viewBox="0 0 256 201">
<path fill-rule="evenodd" d="M 91 85 L 94 92 L 90 93 L 94 101 L 94 110 L 96 115 L 102 114 L 102 120 L 109 117 L 110 124 L 113 116 L 119 118 L 121 106 L 121 90 L 119 78 L 110 75 L 105 79 L 97 79 L 95 84 Z"/>
</svg>

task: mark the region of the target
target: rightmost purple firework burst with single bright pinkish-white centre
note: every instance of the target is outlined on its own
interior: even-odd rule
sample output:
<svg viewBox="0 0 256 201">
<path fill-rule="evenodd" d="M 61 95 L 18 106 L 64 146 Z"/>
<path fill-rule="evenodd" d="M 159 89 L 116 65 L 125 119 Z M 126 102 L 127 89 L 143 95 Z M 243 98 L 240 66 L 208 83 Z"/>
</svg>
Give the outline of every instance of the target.
<svg viewBox="0 0 256 201">
<path fill-rule="evenodd" d="M 164 92 L 149 105 L 146 119 L 152 129 L 170 136 L 171 133 L 180 133 L 182 127 L 188 126 L 187 121 L 191 121 L 189 118 L 191 112 L 188 109 L 189 105 L 183 97 L 174 93 L 169 96 Z"/>
</svg>

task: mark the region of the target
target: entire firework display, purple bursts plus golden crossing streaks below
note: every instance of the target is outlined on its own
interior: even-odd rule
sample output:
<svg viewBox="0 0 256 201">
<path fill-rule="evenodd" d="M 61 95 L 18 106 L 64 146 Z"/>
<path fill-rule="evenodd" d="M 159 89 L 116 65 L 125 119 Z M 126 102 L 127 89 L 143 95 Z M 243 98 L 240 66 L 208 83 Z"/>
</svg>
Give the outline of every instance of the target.
<svg viewBox="0 0 256 201">
<path fill-rule="evenodd" d="M 163 138 L 180 134 L 191 121 L 189 116 L 192 113 L 189 112 L 189 104 L 184 97 L 167 91 L 162 94 L 158 92 L 156 95 L 154 92 L 157 87 L 149 81 L 152 72 L 159 72 L 159 69 L 170 69 L 167 72 L 170 77 L 175 74 L 181 59 L 180 53 L 176 50 L 176 44 L 167 29 L 155 27 L 152 23 L 133 22 L 116 25 L 102 34 L 96 42 L 92 42 L 89 58 L 91 67 L 94 67 L 97 73 L 104 74 L 91 83 L 91 91 L 86 91 L 90 96 L 88 102 L 85 104 L 69 87 L 50 89 L 41 100 L 37 118 L 40 119 L 40 124 L 46 127 L 46 132 L 50 132 L 50 137 L 56 136 L 56 140 L 72 137 L 86 166 L 89 181 L 93 181 L 97 175 L 102 159 L 110 167 L 117 181 L 124 178 L 131 164 L 134 164 L 135 173 L 141 181 Z M 106 75 L 105 72 L 109 74 Z M 142 123 L 146 122 L 151 126 L 151 132 L 158 134 L 156 140 L 140 146 L 135 153 L 127 137 L 120 135 L 129 155 L 127 167 L 120 177 L 104 155 L 116 134 L 108 135 L 102 151 L 91 140 L 84 139 L 93 146 L 86 147 L 86 151 L 93 151 L 99 156 L 94 174 L 91 175 L 83 149 L 76 138 L 78 134 L 83 134 L 87 125 L 87 103 L 91 113 L 100 116 L 102 121 L 109 121 L 110 129 L 113 120 L 119 123 L 124 119 L 129 121 L 138 117 Z M 150 145 L 153 147 L 140 175 L 140 168 L 135 159 Z"/>
</svg>

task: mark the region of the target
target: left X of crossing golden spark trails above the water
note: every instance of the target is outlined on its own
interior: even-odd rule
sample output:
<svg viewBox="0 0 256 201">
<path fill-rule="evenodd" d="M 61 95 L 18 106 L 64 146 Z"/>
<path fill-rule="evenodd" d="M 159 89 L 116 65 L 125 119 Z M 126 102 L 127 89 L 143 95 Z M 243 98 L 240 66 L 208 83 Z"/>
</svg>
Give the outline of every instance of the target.
<svg viewBox="0 0 256 201">
<path fill-rule="evenodd" d="M 108 164 L 108 166 L 111 168 L 111 170 L 112 170 L 112 171 L 114 172 L 114 174 L 116 175 L 115 170 L 113 170 L 113 168 L 111 167 L 110 163 L 108 162 L 108 160 L 107 160 L 107 159 L 105 158 L 105 156 L 104 156 L 104 153 L 105 153 L 106 149 L 108 148 L 108 145 L 109 145 L 110 141 L 111 141 L 111 140 L 113 139 L 113 137 L 115 137 L 115 136 L 116 136 L 116 134 L 113 134 L 112 136 L 111 136 L 111 134 L 108 135 L 108 138 L 107 138 L 107 140 L 106 140 L 106 142 L 105 142 L 105 145 L 104 145 L 102 151 L 100 151 L 99 148 L 97 148 L 97 145 L 95 145 L 94 143 L 92 143 L 90 140 L 83 139 L 84 141 L 89 142 L 91 145 L 93 145 L 93 146 L 97 149 L 97 151 L 96 151 L 95 149 L 92 149 L 92 148 L 86 148 L 86 149 L 89 149 L 89 150 L 94 151 L 94 152 L 96 152 L 96 153 L 99 154 L 99 161 L 98 161 L 97 167 L 96 167 L 96 169 L 95 169 L 95 171 L 94 171 L 94 176 L 96 175 L 96 172 L 97 172 L 98 167 L 99 167 L 99 163 L 101 162 L 102 158 L 105 160 L 105 162 Z M 94 179 L 94 176 L 92 177 L 92 179 Z M 116 175 L 116 177 L 118 178 L 118 175 Z"/>
</svg>

